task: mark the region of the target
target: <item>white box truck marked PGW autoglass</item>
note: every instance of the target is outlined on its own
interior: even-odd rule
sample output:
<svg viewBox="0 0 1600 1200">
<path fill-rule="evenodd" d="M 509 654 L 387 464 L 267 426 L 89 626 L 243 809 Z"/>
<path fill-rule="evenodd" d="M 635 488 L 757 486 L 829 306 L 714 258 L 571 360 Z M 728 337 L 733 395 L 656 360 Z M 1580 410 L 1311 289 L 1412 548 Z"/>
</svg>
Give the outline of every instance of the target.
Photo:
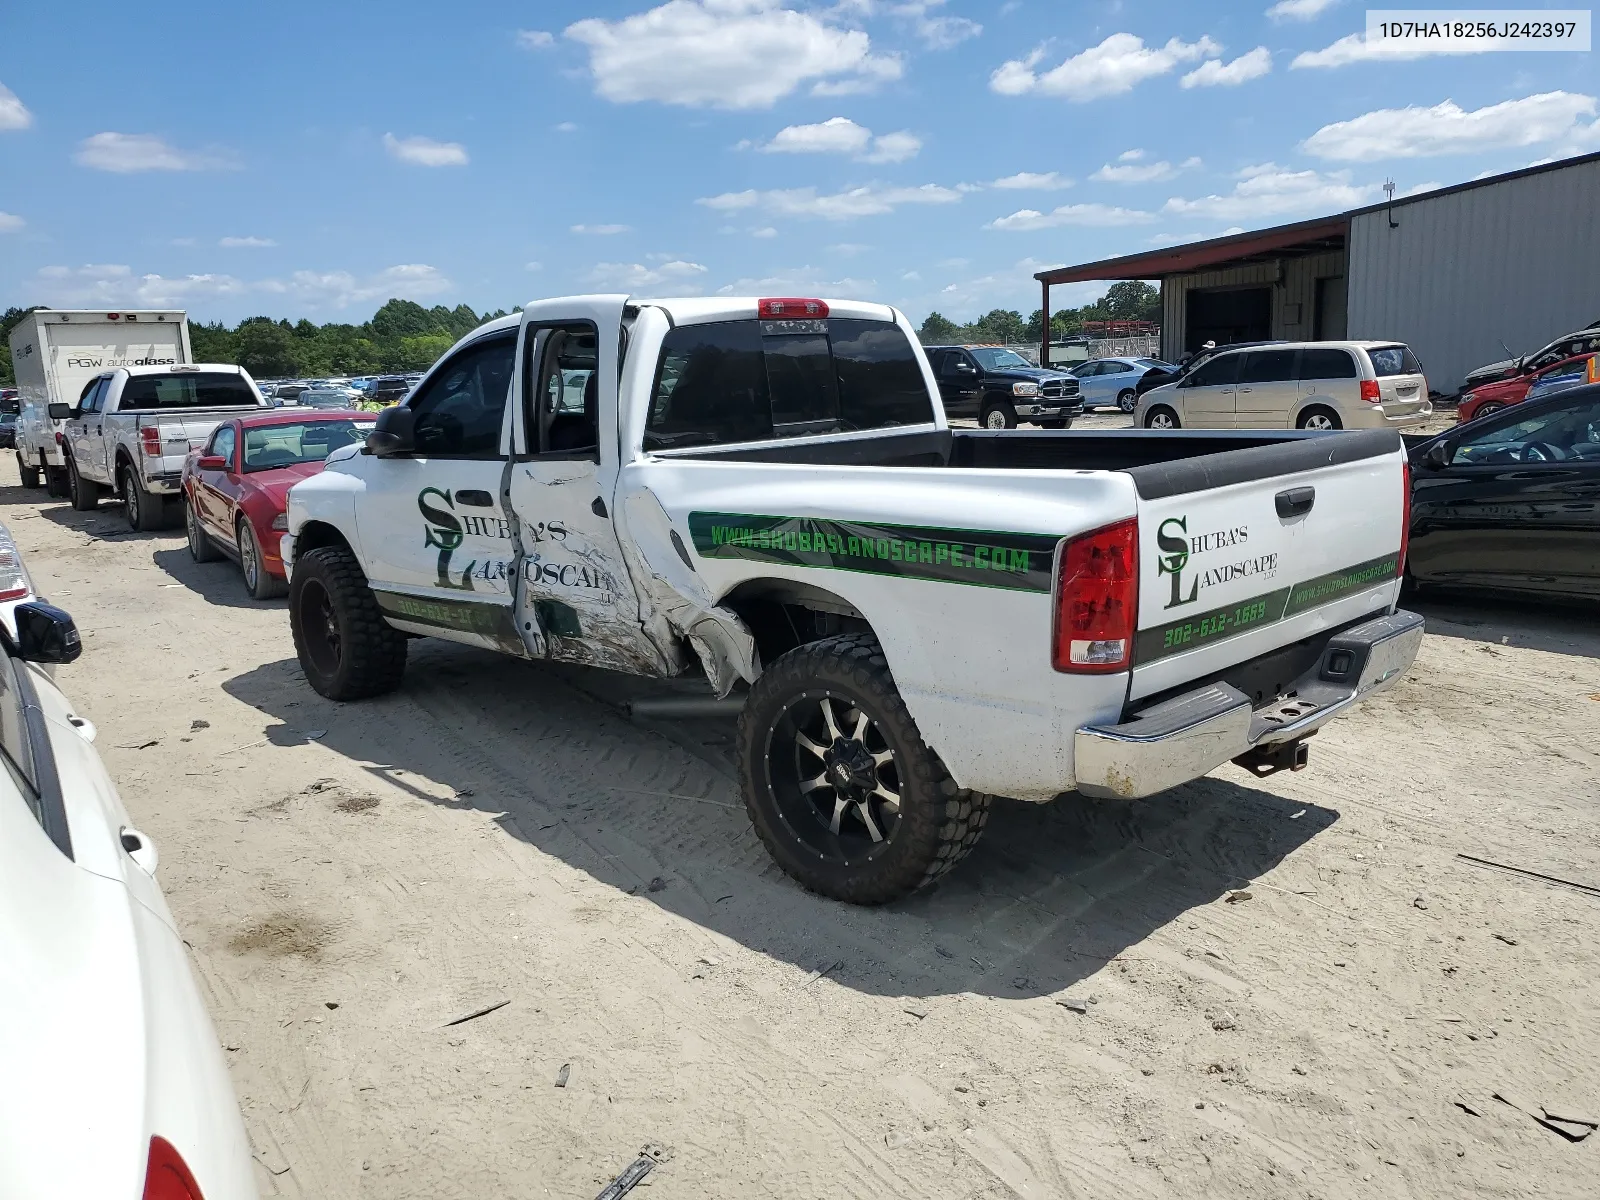
<svg viewBox="0 0 1600 1200">
<path fill-rule="evenodd" d="M 117 366 L 176 366 L 192 360 L 189 318 L 178 310 L 35 309 L 11 330 L 16 371 L 16 466 L 22 486 L 40 482 L 67 494 L 62 421 L 51 403 L 77 405 L 101 374 Z"/>
</svg>

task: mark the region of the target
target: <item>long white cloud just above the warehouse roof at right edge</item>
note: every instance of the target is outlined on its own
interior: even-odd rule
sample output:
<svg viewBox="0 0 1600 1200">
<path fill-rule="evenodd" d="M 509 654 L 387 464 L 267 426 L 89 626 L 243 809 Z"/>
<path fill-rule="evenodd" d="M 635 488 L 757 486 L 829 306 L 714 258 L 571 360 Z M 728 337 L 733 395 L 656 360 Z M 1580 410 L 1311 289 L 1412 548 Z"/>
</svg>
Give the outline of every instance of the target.
<svg viewBox="0 0 1600 1200">
<path fill-rule="evenodd" d="M 1430 109 L 1378 109 L 1347 122 L 1323 125 L 1301 149 L 1318 158 L 1426 158 L 1440 154 L 1477 154 L 1538 146 L 1562 138 L 1584 138 L 1581 118 L 1595 115 L 1595 98 L 1546 91 L 1464 110 L 1454 101 Z"/>
</svg>

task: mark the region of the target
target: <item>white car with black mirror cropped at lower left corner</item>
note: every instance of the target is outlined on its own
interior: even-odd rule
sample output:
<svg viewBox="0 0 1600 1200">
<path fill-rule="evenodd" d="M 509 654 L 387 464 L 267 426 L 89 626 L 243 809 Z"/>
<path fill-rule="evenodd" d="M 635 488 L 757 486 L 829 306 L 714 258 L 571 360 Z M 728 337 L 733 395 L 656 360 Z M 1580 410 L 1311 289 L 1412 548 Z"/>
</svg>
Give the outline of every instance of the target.
<svg viewBox="0 0 1600 1200">
<path fill-rule="evenodd" d="M 59 608 L 0 635 L 0 1192 L 254 1200 L 254 1163 L 182 938 L 50 664 Z"/>
</svg>

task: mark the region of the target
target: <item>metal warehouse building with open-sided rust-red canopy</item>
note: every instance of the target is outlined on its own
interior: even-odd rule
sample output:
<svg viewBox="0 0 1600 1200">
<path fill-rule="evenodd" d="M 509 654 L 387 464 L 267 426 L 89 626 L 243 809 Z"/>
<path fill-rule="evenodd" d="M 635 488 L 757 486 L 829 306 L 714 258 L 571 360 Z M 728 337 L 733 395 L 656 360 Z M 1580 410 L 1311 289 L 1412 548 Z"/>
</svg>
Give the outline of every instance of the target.
<svg viewBox="0 0 1600 1200">
<path fill-rule="evenodd" d="M 1160 280 L 1171 362 L 1205 341 L 1392 338 L 1448 395 L 1506 347 L 1528 354 L 1600 322 L 1597 206 L 1600 154 L 1589 154 L 1034 278 L 1045 312 L 1056 283 Z"/>
</svg>

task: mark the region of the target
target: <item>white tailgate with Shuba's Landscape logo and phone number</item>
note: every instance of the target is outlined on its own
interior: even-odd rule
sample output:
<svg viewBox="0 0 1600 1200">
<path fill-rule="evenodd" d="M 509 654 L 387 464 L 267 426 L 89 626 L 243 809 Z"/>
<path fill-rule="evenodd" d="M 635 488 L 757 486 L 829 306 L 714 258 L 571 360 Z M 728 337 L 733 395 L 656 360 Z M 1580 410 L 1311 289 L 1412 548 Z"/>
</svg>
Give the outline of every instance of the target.
<svg viewBox="0 0 1600 1200">
<path fill-rule="evenodd" d="M 1130 472 L 1139 486 L 1130 699 L 1389 611 L 1403 462 L 1400 438 L 1371 430 L 1213 454 L 1154 480 Z"/>
</svg>

